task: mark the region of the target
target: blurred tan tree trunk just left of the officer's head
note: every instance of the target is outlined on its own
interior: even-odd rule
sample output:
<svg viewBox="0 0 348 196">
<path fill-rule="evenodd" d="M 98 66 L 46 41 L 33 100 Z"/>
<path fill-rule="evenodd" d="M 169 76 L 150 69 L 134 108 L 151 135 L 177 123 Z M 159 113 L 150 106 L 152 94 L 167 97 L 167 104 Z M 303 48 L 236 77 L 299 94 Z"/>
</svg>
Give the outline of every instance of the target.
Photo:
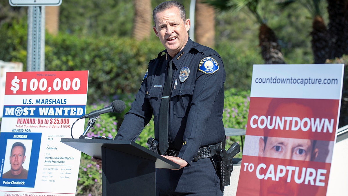
<svg viewBox="0 0 348 196">
<path fill-rule="evenodd" d="M 149 38 L 153 26 L 151 0 L 134 0 L 134 8 L 133 37 L 137 40 Z"/>
</svg>

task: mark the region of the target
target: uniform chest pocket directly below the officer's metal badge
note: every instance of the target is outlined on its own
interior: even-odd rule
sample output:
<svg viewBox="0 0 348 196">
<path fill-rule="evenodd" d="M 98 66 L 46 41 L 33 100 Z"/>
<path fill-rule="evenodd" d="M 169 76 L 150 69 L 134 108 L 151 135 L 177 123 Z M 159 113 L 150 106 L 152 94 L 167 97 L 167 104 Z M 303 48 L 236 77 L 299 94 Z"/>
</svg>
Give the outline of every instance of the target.
<svg viewBox="0 0 348 196">
<path fill-rule="evenodd" d="M 179 86 L 177 86 L 179 87 Z M 176 88 L 172 91 L 171 103 L 174 115 L 179 118 L 187 116 L 190 110 L 192 93 L 195 85 L 181 85 L 180 88 Z"/>
</svg>

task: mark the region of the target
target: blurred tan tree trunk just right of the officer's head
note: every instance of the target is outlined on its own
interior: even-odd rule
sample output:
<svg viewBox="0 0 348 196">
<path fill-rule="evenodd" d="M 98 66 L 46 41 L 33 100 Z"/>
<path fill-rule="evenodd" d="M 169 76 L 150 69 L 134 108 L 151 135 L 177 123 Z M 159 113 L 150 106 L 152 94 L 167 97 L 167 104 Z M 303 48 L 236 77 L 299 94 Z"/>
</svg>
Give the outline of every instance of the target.
<svg viewBox="0 0 348 196">
<path fill-rule="evenodd" d="M 212 48 L 215 45 L 215 11 L 201 1 L 196 0 L 195 42 Z"/>
</svg>

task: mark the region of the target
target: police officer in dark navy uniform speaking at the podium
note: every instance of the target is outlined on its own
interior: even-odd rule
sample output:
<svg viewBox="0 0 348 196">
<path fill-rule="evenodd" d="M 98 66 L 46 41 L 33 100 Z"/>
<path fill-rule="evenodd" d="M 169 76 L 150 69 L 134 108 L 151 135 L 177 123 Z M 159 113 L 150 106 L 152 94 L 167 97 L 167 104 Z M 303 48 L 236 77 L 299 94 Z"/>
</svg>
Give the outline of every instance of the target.
<svg viewBox="0 0 348 196">
<path fill-rule="evenodd" d="M 169 146 L 159 151 L 179 164 L 180 169 L 157 169 L 156 193 L 223 195 L 211 159 L 200 158 L 198 154 L 200 148 L 225 138 L 222 122 L 225 71 L 221 57 L 211 48 L 192 42 L 188 36 L 190 19 L 186 19 L 180 3 L 161 3 L 153 10 L 153 20 L 153 30 L 166 50 L 149 62 L 140 90 L 115 139 L 135 141 L 153 116 L 155 139 L 159 145 L 166 143 L 159 138 L 159 129 L 165 123 L 161 120 L 160 105 L 164 99 L 169 100 L 166 117 Z M 163 91 L 168 64 L 172 65 L 172 77 L 166 96 Z"/>
</svg>

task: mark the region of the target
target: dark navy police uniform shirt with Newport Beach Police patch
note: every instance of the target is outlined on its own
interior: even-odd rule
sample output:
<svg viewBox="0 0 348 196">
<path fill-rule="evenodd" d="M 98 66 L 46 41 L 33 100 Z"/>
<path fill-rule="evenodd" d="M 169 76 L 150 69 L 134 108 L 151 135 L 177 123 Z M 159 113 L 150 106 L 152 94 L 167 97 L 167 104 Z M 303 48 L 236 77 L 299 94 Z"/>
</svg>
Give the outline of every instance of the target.
<svg viewBox="0 0 348 196">
<path fill-rule="evenodd" d="M 158 140 L 161 123 L 158 114 L 169 60 L 173 60 L 169 149 L 180 150 L 177 157 L 190 164 L 200 147 L 224 140 L 222 112 L 226 76 L 220 55 L 190 38 L 173 59 L 164 50 L 149 62 L 140 90 L 115 139 L 135 141 L 153 115 Z"/>
</svg>

